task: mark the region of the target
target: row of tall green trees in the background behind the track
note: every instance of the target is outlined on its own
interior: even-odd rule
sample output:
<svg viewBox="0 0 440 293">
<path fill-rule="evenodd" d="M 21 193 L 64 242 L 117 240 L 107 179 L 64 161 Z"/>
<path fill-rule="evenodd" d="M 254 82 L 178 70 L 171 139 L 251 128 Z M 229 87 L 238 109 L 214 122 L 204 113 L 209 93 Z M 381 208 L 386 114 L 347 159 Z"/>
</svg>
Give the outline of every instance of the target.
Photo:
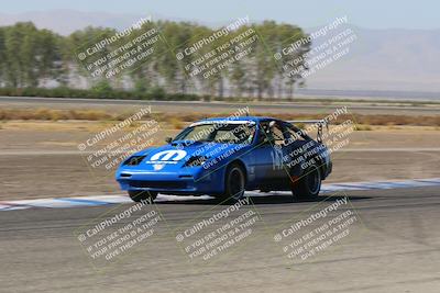
<svg viewBox="0 0 440 293">
<path fill-rule="evenodd" d="M 101 66 L 92 65 L 86 68 L 101 58 L 105 59 L 103 64 L 108 64 L 109 58 L 112 58 L 108 57 L 109 53 L 121 48 L 152 29 L 158 30 L 157 35 L 160 35 L 160 40 L 151 45 L 154 53 L 134 64 L 133 67 L 111 78 L 105 76 L 107 69 L 103 74 L 98 72 L 97 69 Z M 285 93 L 292 98 L 294 88 L 304 84 L 301 72 L 307 70 L 305 57 L 310 49 L 310 43 L 302 42 L 307 35 L 301 29 L 290 24 L 265 21 L 260 24 L 243 25 L 204 43 L 191 54 L 184 54 L 184 58 L 177 58 L 176 54 L 193 47 L 204 38 L 207 40 L 218 30 L 220 29 L 191 22 L 146 22 L 142 25 L 142 30 L 134 30 L 94 54 L 87 54 L 85 61 L 78 58 L 79 53 L 88 52 L 87 48 L 95 48 L 98 42 L 109 40 L 117 34 L 117 31 L 89 26 L 69 36 L 59 36 L 48 30 L 37 30 L 30 22 L 16 23 L 12 26 L 0 27 L 0 86 L 21 89 L 47 87 L 56 81 L 61 86 L 85 87 L 102 94 L 110 94 L 113 88 L 130 88 L 142 94 L 155 91 L 163 95 L 163 90 L 166 90 L 168 93 L 196 93 L 220 98 L 234 94 L 263 99 L 275 95 L 280 98 L 285 97 Z M 224 49 L 224 44 L 249 30 L 254 30 L 257 36 L 256 42 L 249 42 L 244 46 L 235 42 L 232 45 L 234 46 L 232 53 Z M 255 34 L 242 41 L 252 41 L 251 37 L 255 37 Z M 301 41 L 299 48 L 289 54 L 283 54 L 282 58 L 274 58 L 275 53 L 280 53 L 283 48 L 297 41 Z M 220 47 L 222 49 L 219 49 Z M 146 50 L 146 48 L 143 49 Z M 216 57 L 208 56 L 208 53 L 212 52 L 217 53 Z M 216 61 L 215 58 L 226 52 L 228 52 L 228 60 L 238 53 L 248 54 L 220 67 L 220 64 L 224 65 L 224 55 L 218 58 L 220 61 Z M 202 56 L 212 61 L 210 66 L 202 68 L 194 63 Z M 293 58 L 300 61 L 289 68 L 294 74 L 287 75 L 283 66 Z M 202 64 L 206 65 L 206 60 Z M 113 65 L 117 66 L 118 63 Z M 209 77 L 204 76 L 212 68 L 217 71 L 210 71 Z M 302 71 L 295 70 L 299 68 L 304 68 Z M 202 69 L 201 74 L 191 75 L 197 69 Z M 103 82 L 103 79 L 107 81 Z"/>
</svg>

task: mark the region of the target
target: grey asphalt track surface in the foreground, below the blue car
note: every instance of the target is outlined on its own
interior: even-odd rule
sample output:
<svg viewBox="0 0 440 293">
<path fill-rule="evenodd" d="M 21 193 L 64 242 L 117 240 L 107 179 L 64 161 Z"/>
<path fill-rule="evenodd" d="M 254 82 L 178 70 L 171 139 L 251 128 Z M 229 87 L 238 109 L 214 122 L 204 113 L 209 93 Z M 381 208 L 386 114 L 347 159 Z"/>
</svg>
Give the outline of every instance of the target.
<svg viewBox="0 0 440 293">
<path fill-rule="evenodd" d="M 99 263 L 90 261 L 76 232 L 112 207 L 1 212 L 0 292 L 439 292 L 439 187 L 327 196 L 252 199 L 242 209 L 255 209 L 263 221 L 239 247 L 207 262 L 190 261 L 175 232 L 229 203 L 195 198 L 151 205 L 166 223 L 117 262 Z M 341 212 L 359 218 L 350 235 L 304 261 L 287 259 L 274 241 L 278 227 L 343 196 L 351 205 Z"/>
</svg>

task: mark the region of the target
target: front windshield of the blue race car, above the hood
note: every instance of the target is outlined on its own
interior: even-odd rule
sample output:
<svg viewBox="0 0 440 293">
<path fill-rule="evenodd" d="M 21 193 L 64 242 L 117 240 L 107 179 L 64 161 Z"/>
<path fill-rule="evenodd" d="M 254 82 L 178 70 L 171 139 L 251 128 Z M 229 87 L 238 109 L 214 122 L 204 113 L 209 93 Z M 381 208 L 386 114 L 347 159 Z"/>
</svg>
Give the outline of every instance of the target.
<svg viewBox="0 0 440 293">
<path fill-rule="evenodd" d="M 185 128 L 174 140 L 251 144 L 255 125 L 249 123 L 210 123 Z"/>
</svg>

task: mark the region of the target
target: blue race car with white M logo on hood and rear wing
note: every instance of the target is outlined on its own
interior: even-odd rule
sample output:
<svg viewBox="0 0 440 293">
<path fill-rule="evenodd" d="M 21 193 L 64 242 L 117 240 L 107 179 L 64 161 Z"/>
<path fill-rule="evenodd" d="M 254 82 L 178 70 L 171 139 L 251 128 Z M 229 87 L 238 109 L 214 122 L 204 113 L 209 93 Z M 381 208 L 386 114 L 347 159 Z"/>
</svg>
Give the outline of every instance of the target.
<svg viewBox="0 0 440 293">
<path fill-rule="evenodd" d="M 332 169 L 320 138 L 326 123 L 311 121 L 317 140 L 294 123 L 257 116 L 195 122 L 166 145 L 129 157 L 116 179 L 136 202 L 157 193 L 238 200 L 245 190 L 314 199 Z"/>
</svg>

